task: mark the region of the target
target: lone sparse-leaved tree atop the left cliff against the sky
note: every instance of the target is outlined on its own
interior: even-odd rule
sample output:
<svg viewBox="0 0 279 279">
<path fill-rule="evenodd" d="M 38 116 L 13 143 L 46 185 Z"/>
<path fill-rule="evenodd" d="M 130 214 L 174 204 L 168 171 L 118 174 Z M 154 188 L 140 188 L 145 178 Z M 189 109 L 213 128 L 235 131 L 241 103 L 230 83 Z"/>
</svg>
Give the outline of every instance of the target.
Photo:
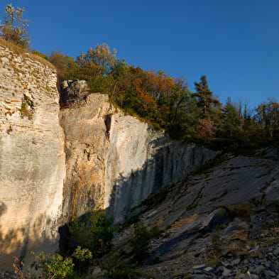
<svg viewBox="0 0 279 279">
<path fill-rule="evenodd" d="M 23 8 L 13 8 L 12 4 L 6 6 L 4 23 L 0 25 L 0 36 L 4 40 L 27 48 L 30 39 L 28 36 L 28 20 L 23 19 Z"/>
</svg>

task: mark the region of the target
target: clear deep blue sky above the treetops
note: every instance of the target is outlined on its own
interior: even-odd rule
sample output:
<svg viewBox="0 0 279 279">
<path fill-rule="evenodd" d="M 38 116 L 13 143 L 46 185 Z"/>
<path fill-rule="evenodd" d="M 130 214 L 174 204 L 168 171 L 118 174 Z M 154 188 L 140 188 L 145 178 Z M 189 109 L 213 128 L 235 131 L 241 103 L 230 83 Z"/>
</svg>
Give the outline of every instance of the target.
<svg viewBox="0 0 279 279">
<path fill-rule="evenodd" d="M 279 99 L 279 0 L 1 0 L 24 7 L 31 48 L 76 58 L 107 43 L 144 70 L 201 75 L 219 95 L 251 106 Z"/>
</svg>

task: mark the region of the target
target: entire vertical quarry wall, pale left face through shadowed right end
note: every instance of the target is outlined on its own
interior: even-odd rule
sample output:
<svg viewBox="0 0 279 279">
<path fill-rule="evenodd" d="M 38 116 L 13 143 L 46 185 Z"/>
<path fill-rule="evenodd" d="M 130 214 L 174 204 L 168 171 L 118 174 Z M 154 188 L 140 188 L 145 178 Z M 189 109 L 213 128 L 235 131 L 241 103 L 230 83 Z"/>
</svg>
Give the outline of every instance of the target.
<svg viewBox="0 0 279 279">
<path fill-rule="evenodd" d="M 60 226 L 96 207 L 122 221 L 216 155 L 124 114 L 83 81 L 63 86 L 60 109 L 55 69 L 0 40 L 3 268 L 12 256 L 28 263 L 30 251 L 56 251 Z"/>
</svg>

